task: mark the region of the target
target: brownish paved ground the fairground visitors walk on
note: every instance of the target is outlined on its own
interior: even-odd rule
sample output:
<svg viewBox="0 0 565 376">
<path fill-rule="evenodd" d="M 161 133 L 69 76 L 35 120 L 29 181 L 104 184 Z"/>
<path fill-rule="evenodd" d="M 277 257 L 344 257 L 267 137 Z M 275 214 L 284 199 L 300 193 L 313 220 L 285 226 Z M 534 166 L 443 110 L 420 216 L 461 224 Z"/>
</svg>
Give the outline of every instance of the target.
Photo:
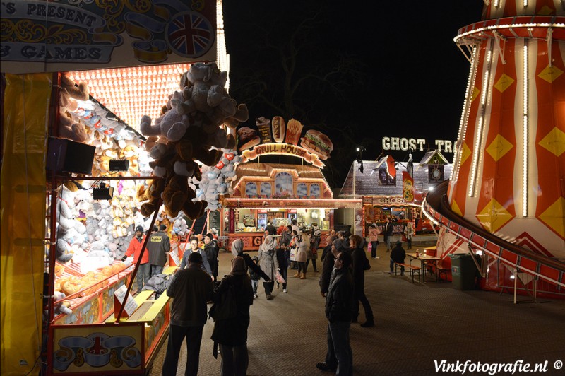
<svg viewBox="0 0 565 376">
<path fill-rule="evenodd" d="M 412 283 L 408 277 L 387 273 L 388 254 L 382 245 L 378 254 L 381 259 L 371 259 L 365 276 L 376 326 L 352 324 L 350 331 L 355 375 L 436 375 L 434 361 L 441 360 L 523 360 L 522 364 L 547 360 L 547 372 L 535 375 L 564 375 L 555 363 L 565 361 L 565 301 L 541 299 L 514 305 L 511 295 L 460 291 L 451 282 Z M 220 254 L 220 274 L 227 274 L 231 258 L 229 253 Z M 328 375 L 316 369 L 326 355 L 327 326 L 318 278 L 319 273 L 313 272 L 306 280 L 289 278 L 289 292 L 283 293 L 281 286 L 273 300 L 265 299 L 260 284 L 259 298 L 251 306 L 248 375 Z M 364 322 L 363 313 L 359 322 Z M 199 375 L 220 374 L 220 359 L 212 356 L 212 329 L 210 321 L 204 328 Z M 165 343 L 150 375 L 161 374 L 166 347 Z M 177 375 L 184 375 L 185 361 L 182 353 Z"/>
</svg>

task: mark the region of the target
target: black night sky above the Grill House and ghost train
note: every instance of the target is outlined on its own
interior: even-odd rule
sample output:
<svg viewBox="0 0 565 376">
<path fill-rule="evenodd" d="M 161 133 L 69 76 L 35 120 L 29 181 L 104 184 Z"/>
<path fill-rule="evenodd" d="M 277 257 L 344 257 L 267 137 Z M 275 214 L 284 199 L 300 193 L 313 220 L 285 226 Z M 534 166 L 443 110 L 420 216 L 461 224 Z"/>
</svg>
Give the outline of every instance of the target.
<svg viewBox="0 0 565 376">
<path fill-rule="evenodd" d="M 363 4 L 372 5 L 369 9 L 362 8 Z M 482 6 L 481 0 L 226 0 L 230 93 L 238 102 L 247 103 L 248 124 L 259 116 L 279 115 L 251 98 L 246 86 L 257 72 L 266 71 L 267 92 L 281 98 L 284 82 L 275 78 L 284 72 L 280 58 L 268 52 L 266 40 L 275 47 L 284 45 L 302 20 L 314 17 L 307 22 L 311 30 L 297 38 L 299 43 L 311 44 L 305 42 L 295 78 L 341 57 L 355 61 L 357 72 L 339 86 L 341 98 L 328 95 L 327 86 L 314 84 L 310 91 L 296 96 L 297 109 L 292 114 L 304 123 L 304 129 L 312 127 L 328 134 L 335 146 L 332 158 L 349 158 L 348 165 L 355 153 L 337 149 L 364 145 L 363 159 L 375 159 L 385 136 L 424 138 L 435 148 L 435 139 L 456 140 L 470 68 L 453 37 L 458 28 L 480 20 Z M 391 154 L 403 160 L 406 152 Z M 416 153 L 415 159 L 422 155 Z M 446 157 L 451 159 L 453 154 Z"/>
</svg>

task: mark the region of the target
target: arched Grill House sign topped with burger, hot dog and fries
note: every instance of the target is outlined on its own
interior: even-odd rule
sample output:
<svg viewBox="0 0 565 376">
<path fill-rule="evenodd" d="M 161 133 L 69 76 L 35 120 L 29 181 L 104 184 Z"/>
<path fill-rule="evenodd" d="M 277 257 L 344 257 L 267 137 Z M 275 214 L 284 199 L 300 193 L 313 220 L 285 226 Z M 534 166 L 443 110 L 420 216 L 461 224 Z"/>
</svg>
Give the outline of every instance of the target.
<svg viewBox="0 0 565 376">
<path fill-rule="evenodd" d="M 266 135 L 269 123 L 271 134 Z M 294 155 L 323 168 L 322 160 L 328 159 L 333 150 L 331 140 L 320 131 L 310 129 L 300 137 L 303 126 L 295 119 L 285 123 L 280 116 L 273 117 L 272 122 L 259 117 L 256 119 L 256 125 L 260 127 L 260 131 L 250 127 L 237 129 L 238 150 L 242 152 L 242 162 L 254 160 L 260 155 Z M 261 143 L 261 139 L 275 142 Z"/>
</svg>

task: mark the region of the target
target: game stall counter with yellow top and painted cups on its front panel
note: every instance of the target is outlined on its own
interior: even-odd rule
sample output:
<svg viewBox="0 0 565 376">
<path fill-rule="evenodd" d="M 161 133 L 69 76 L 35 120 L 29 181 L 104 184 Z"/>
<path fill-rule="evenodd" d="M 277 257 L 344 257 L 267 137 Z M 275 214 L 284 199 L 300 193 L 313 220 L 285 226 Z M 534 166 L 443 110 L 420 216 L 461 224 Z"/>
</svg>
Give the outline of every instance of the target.
<svg viewBox="0 0 565 376">
<path fill-rule="evenodd" d="M 171 299 L 166 292 L 155 299 L 155 291 L 145 290 L 133 300 L 136 309 L 119 322 L 112 315 L 100 324 L 52 325 L 50 373 L 145 375 L 167 339 Z"/>
</svg>

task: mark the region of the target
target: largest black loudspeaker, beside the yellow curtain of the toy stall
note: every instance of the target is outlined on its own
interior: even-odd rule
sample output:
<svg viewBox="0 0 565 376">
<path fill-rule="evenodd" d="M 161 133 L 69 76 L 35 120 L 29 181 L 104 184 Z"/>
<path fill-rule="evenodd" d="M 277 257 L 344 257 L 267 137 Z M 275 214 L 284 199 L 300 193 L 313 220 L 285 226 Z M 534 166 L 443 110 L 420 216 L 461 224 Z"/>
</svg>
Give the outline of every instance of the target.
<svg viewBox="0 0 565 376">
<path fill-rule="evenodd" d="M 91 175 L 95 151 L 95 146 L 49 137 L 47 170 Z"/>
</svg>

